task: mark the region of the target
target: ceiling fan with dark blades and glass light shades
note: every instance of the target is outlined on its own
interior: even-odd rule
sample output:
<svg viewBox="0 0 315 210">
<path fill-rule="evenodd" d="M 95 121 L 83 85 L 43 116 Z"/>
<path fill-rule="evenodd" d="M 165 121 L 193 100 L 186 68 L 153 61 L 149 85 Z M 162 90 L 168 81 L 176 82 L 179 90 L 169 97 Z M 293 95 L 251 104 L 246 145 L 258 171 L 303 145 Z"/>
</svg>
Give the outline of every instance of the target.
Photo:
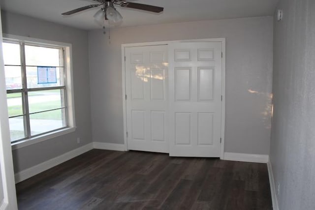
<svg viewBox="0 0 315 210">
<path fill-rule="evenodd" d="M 144 11 L 149 11 L 149 12 L 155 12 L 159 13 L 163 11 L 163 7 L 159 6 L 153 6 L 153 5 L 147 5 L 147 4 L 142 4 L 142 3 L 133 3 L 129 2 L 129 0 L 94 0 L 99 2 L 99 4 L 91 4 L 87 6 L 83 6 L 77 9 L 73 9 L 68 12 L 62 13 L 62 15 L 72 15 L 77 12 L 81 12 L 86 9 L 102 6 L 100 10 L 98 10 L 94 18 L 98 22 L 102 22 L 103 20 L 110 20 L 113 21 L 114 23 L 117 23 L 123 19 L 122 15 L 116 10 L 114 5 L 118 5 L 121 7 L 126 7 L 126 8 L 133 8 L 133 9 L 139 9 L 139 10 L 144 10 Z"/>
</svg>

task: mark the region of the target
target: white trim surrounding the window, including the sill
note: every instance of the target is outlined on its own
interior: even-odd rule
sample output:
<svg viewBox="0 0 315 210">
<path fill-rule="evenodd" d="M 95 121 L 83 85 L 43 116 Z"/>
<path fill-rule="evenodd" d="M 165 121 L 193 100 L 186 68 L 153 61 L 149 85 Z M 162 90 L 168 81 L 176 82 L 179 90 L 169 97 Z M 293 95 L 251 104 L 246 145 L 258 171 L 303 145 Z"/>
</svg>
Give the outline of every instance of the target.
<svg viewBox="0 0 315 210">
<path fill-rule="evenodd" d="M 23 148 L 32 144 L 36 144 L 42 141 L 46 141 L 49 139 L 56 138 L 58 136 L 65 135 L 67 133 L 74 132 L 76 129 L 75 125 L 75 112 L 74 112 L 74 90 L 73 90 L 73 70 L 72 70 L 72 45 L 69 43 L 63 43 L 63 42 L 56 42 L 56 41 L 49 41 L 45 39 L 37 39 L 37 38 L 31 38 L 31 37 L 25 37 L 25 36 L 18 36 L 18 35 L 11 35 L 3 33 L 3 38 L 6 40 L 12 40 L 12 41 L 26 41 L 28 43 L 34 43 L 34 44 L 47 44 L 50 46 L 63 46 L 65 48 L 65 67 L 66 67 L 66 91 L 67 91 L 67 118 L 68 118 L 68 127 L 52 131 L 40 136 L 36 136 L 30 139 L 22 140 L 19 142 L 11 143 L 12 150 L 16 150 L 19 148 Z"/>
</svg>

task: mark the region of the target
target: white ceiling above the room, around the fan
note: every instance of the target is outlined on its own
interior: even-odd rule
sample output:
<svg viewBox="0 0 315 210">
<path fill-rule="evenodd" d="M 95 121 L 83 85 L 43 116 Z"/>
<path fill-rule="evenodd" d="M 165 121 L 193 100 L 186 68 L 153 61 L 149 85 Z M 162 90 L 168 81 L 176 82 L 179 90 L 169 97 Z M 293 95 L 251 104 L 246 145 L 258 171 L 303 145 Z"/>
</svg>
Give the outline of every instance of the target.
<svg viewBox="0 0 315 210">
<path fill-rule="evenodd" d="M 133 0 L 137 3 L 164 7 L 160 14 L 136 9 L 117 10 L 124 17 L 117 27 L 139 26 L 161 23 L 217 20 L 273 15 L 278 0 Z M 78 7 L 97 3 L 93 0 L 1 0 L 1 9 L 48 20 L 84 30 L 101 28 L 92 8 L 71 16 L 61 13 Z"/>
</svg>

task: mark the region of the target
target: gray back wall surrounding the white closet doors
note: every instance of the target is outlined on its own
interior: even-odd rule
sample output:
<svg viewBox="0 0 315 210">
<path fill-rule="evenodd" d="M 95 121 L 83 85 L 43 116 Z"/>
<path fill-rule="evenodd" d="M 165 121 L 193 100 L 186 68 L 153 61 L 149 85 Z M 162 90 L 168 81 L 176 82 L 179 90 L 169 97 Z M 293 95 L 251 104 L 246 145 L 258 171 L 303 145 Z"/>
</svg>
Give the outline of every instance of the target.
<svg viewBox="0 0 315 210">
<path fill-rule="evenodd" d="M 89 32 L 93 141 L 124 143 L 121 44 L 226 38 L 225 151 L 269 154 L 272 17 Z M 107 34 L 108 35 L 108 34 Z"/>
</svg>

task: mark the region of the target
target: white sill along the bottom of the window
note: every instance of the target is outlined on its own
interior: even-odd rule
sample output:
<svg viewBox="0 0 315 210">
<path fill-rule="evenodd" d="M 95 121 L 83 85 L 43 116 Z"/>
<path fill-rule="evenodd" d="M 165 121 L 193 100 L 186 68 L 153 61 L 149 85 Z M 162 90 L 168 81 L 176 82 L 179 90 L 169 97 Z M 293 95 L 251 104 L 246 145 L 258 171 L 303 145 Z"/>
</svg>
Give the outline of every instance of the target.
<svg viewBox="0 0 315 210">
<path fill-rule="evenodd" d="M 62 136 L 62 135 L 67 134 L 67 133 L 72 133 L 74 131 L 75 131 L 75 127 L 67 127 L 67 128 L 62 129 L 62 130 L 51 132 L 49 134 L 45 134 L 42 136 L 36 136 L 36 137 L 31 138 L 31 139 L 26 139 L 26 140 L 23 140 L 20 142 L 12 143 L 11 144 L 12 150 L 27 147 L 29 145 L 43 142 L 43 141 L 46 141 L 46 140 L 49 140 L 52 138 L 56 138 L 58 136 Z"/>
</svg>

